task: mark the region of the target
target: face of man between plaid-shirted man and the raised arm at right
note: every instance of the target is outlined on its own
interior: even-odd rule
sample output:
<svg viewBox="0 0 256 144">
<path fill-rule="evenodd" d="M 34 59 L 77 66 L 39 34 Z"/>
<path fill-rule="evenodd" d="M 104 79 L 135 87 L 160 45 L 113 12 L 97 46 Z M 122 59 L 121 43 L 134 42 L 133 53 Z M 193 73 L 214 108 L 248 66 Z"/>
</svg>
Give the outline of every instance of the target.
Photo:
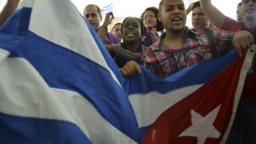
<svg viewBox="0 0 256 144">
<path fill-rule="evenodd" d="M 194 28 L 204 28 L 208 26 L 209 19 L 200 7 L 194 8 L 192 11 L 192 24 Z"/>
</svg>

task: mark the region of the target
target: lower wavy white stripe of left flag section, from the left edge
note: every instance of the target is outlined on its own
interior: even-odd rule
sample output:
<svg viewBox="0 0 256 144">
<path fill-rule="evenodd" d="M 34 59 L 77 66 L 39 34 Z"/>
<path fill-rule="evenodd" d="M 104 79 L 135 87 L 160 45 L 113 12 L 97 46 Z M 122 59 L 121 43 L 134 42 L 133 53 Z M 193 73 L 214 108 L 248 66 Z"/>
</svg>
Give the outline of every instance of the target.
<svg viewBox="0 0 256 144">
<path fill-rule="evenodd" d="M 72 122 L 97 144 L 135 143 L 78 93 L 49 88 L 28 61 L 8 58 L 0 64 L 0 75 L 1 113 Z"/>
</svg>

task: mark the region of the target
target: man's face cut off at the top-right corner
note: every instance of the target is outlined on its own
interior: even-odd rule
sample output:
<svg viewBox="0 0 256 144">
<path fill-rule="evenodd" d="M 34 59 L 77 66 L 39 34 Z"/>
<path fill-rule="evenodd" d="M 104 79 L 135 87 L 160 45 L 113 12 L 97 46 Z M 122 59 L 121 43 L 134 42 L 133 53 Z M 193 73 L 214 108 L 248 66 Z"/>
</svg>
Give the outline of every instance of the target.
<svg viewBox="0 0 256 144">
<path fill-rule="evenodd" d="M 244 20 L 256 21 L 256 0 L 243 0 Z"/>
</svg>

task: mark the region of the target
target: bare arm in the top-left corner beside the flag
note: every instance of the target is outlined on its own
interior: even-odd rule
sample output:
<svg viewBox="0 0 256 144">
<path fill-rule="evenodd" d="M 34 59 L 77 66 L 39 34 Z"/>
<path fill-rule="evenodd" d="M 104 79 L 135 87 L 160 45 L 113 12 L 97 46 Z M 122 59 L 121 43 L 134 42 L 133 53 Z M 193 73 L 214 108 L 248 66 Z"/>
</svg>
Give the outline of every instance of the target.
<svg viewBox="0 0 256 144">
<path fill-rule="evenodd" d="M 8 0 L 0 13 L 0 27 L 10 17 L 10 15 L 17 9 L 20 0 Z"/>
</svg>

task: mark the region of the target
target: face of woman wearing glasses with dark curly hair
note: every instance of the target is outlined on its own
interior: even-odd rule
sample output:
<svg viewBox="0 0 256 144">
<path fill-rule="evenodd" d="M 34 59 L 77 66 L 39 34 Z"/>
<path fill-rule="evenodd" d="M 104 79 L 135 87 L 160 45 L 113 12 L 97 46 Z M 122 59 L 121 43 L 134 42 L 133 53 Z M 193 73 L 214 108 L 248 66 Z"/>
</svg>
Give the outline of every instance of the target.
<svg viewBox="0 0 256 144">
<path fill-rule="evenodd" d="M 154 12 L 148 10 L 144 13 L 143 24 L 147 30 L 156 28 L 157 26 L 157 15 Z"/>
</svg>

